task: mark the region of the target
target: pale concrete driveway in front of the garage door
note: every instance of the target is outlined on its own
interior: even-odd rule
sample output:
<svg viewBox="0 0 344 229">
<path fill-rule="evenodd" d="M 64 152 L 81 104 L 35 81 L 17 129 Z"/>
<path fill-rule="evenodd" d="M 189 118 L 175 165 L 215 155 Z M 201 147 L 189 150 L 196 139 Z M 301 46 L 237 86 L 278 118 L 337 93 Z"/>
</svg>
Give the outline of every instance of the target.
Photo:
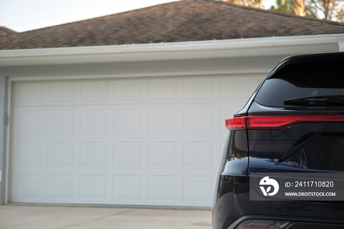
<svg viewBox="0 0 344 229">
<path fill-rule="evenodd" d="M 210 210 L 0 206 L 6 229 L 211 229 Z"/>
</svg>

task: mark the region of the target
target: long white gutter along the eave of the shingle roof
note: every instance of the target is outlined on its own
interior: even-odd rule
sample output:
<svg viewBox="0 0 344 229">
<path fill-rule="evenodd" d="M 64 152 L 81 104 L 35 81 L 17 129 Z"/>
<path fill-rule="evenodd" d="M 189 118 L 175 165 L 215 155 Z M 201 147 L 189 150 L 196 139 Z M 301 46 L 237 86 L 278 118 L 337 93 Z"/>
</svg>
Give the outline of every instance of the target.
<svg viewBox="0 0 344 229">
<path fill-rule="evenodd" d="M 92 58 L 106 55 L 109 61 L 140 61 L 154 59 L 183 59 L 200 58 L 200 52 L 204 57 L 238 57 L 238 56 L 267 56 L 268 53 L 260 53 L 262 49 L 270 49 L 270 53 L 275 49 L 280 55 L 288 55 L 284 52 L 291 47 L 333 46 L 336 45 L 339 51 L 339 42 L 344 41 L 344 34 L 319 34 L 304 36 L 283 36 L 283 37 L 263 37 L 263 38 L 242 38 L 229 40 L 209 40 L 209 41 L 187 41 L 151 44 L 131 44 L 131 45 L 109 45 L 109 46 L 86 46 L 68 48 L 46 48 L 46 49 L 24 49 L 24 50 L 0 50 L 0 66 L 25 64 L 25 60 L 30 58 L 41 59 L 41 64 L 55 63 L 56 58 L 67 57 L 66 63 L 85 62 L 81 57 Z M 252 51 L 259 51 L 254 54 Z M 249 51 L 247 53 L 247 51 Z M 312 52 L 312 50 L 310 50 Z M 336 50 L 334 50 L 336 51 Z M 193 53 L 194 52 L 194 53 Z M 327 52 L 325 50 L 325 52 Z M 183 57 L 183 55 L 186 57 Z M 159 55 L 160 54 L 160 55 Z M 161 54 L 165 56 L 161 57 Z M 301 53 L 300 53 L 301 54 Z M 128 56 L 129 55 L 129 56 Z M 132 57 L 130 57 L 132 56 Z M 112 58 L 111 58 L 112 57 Z M 52 61 L 49 61 L 51 58 Z M 12 61 L 19 61 L 17 64 Z M 94 59 L 96 61 L 96 59 Z M 90 60 L 89 60 L 90 61 Z M 12 62 L 12 63 L 11 63 Z M 28 64 L 31 61 L 27 61 Z M 61 63 L 60 61 L 57 61 Z M 63 61 L 62 61 L 63 62 Z M 87 62 L 87 61 L 86 61 Z M 92 62 L 92 61 L 91 61 Z M 96 61 L 99 62 L 99 61 Z M 7 64 L 4 64 L 7 63 Z M 39 64 L 39 63 L 36 63 Z"/>
</svg>

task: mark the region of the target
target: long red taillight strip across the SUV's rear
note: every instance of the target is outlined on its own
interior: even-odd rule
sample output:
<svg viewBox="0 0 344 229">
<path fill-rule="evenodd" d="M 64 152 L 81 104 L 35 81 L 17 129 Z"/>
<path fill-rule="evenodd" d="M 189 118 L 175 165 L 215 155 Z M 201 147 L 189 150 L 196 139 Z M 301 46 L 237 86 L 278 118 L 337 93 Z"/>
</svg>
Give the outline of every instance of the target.
<svg viewBox="0 0 344 229">
<path fill-rule="evenodd" d="M 245 120 L 244 124 L 242 124 Z M 229 130 L 281 130 L 305 122 L 344 122 L 343 116 L 251 115 L 226 120 Z"/>
</svg>

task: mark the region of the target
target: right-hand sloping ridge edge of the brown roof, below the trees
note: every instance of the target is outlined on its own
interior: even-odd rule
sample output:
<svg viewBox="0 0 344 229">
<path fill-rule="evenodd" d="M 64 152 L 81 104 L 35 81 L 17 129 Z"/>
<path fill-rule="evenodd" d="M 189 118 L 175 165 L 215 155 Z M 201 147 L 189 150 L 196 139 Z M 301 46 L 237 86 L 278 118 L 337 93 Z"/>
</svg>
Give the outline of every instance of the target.
<svg viewBox="0 0 344 229">
<path fill-rule="evenodd" d="M 344 23 L 342 23 L 342 22 L 334 22 L 334 21 L 330 21 L 330 20 L 313 18 L 313 17 L 308 17 L 308 16 L 302 17 L 302 16 L 283 13 L 283 12 L 274 11 L 274 10 L 259 9 L 256 7 L 240 5 L 240 4 L 236 4 L 236 3 L 232 3 L 232 2 L 228 2 L 228 1 L 223 1 L 223 0 L 201 0 L 201 1 L 210 1 L 210 2 L 214 2 L 214 3 L 226 4 L 226 5 L 230 5 L 230 6 L 234 6 L 234 7 L 245 8 L 245 9 L 255 10 L 255 11 L 260 11 L 260 12 L 265 12 L 265 13 L 271 13 L 271 14 L 277 14 L 277 15 L 282 15 L 282 16 L 287 16 L 287 17 L 293 17 L 293 18 L 299 18 L 299 19 L 304 19 L 304 20 L 329 23 L 329 24 L 334 24 L 334 25 L 338 25 L 338 26 L 344 26 Z"/>
</svg>

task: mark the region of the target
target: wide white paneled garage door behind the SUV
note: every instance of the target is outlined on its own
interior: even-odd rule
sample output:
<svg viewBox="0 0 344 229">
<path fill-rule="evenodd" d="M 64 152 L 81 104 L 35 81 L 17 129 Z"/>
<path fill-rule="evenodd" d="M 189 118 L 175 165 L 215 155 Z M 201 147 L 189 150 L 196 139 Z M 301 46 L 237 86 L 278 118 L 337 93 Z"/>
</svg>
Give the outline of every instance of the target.
<svg viewBox="0 0 344 229">
<path fill-rule="evenodd" d="M 224 119 L 263 77 L 15 82 L 10 201 L 211 206 Z"/>
</svg>

